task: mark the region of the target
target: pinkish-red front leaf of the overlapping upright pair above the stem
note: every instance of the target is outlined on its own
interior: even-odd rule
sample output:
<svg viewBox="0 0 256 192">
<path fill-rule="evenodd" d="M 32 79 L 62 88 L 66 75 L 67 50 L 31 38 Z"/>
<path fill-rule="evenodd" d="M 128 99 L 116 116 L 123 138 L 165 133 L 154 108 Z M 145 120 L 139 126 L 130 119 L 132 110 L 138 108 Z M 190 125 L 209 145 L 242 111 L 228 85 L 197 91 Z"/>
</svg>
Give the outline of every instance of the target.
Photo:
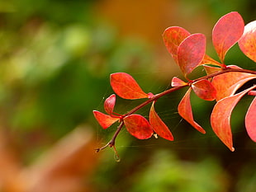
<svg viewBox="0 0 256 192">
<path fill-rule="evenodd" d="M 206 36 L 189 35 L 178 46 L 178 65 L 185 76 L 201 63 L 206 53 Z"/>
</svg>

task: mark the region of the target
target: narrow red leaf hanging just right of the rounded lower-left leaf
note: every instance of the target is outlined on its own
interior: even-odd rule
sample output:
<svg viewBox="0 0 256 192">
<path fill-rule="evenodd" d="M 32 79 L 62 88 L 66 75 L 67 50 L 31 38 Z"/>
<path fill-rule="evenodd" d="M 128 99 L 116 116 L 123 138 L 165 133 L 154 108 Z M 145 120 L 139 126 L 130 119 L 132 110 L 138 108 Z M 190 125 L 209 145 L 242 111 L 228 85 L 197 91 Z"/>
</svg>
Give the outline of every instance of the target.
<svg viewBox="0 0 256 192">
<path fill-rule="evenodd" d="M 152 103 L 149 111 L 149 123 L 151 124 L 154 132 L 157 133 L 160 137 L 173 141 L 173 134 L 154 110 L 154 102 Z"/>
</svg>

